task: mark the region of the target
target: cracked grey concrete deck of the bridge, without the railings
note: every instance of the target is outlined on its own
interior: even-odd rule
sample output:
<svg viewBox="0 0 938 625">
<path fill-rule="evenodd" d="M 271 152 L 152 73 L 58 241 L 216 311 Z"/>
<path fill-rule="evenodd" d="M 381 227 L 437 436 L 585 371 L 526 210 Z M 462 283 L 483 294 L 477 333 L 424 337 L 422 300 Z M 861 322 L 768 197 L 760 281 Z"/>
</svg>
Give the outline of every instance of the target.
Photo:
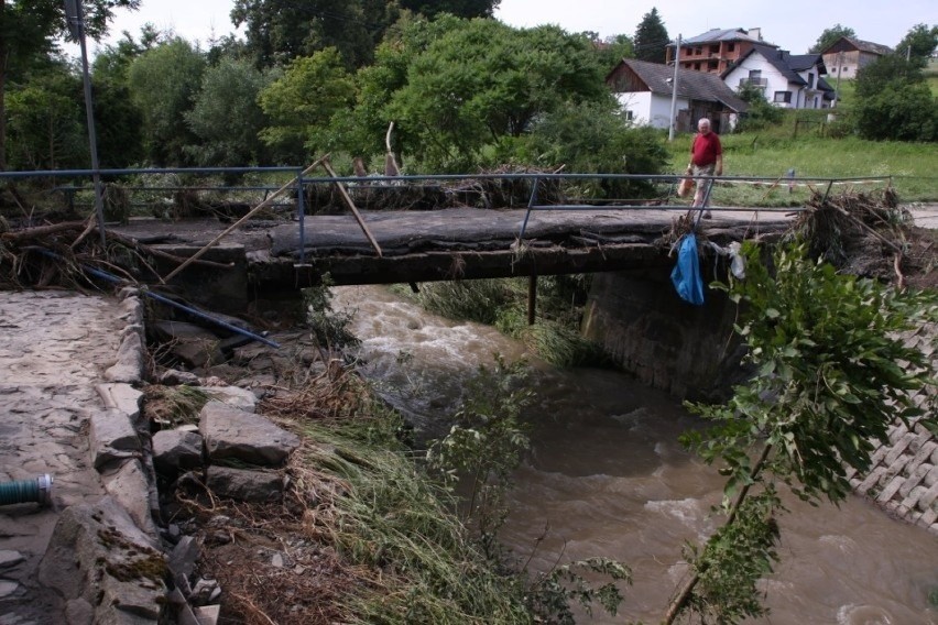
<svg viewBox="0 0 938 625">
<path fill-rule="evenodd" d="M 326 273 L 334 284 L 345 285 L 617 271 L 672 262 L 662 241 L 685 210 L 362 211 L 380 254 L 352 215 L 306 217 L 303 244 L 297 221 L 249 221 L 219 248 L 238 254 L 232 245 L 241 246 L 252 288 L 260 290 L 296 289 L 318 283 Z M 713 218 L 701 223 L 708 238 L 726 243 L 777 234 L 789 215 L 778 209 L 716 209 Z M 209 219 L 146 219 L 114 230 L 190 255 L 226 227 Z M 225 260 L 223 254 L 218 260 Z"/>
</svg>

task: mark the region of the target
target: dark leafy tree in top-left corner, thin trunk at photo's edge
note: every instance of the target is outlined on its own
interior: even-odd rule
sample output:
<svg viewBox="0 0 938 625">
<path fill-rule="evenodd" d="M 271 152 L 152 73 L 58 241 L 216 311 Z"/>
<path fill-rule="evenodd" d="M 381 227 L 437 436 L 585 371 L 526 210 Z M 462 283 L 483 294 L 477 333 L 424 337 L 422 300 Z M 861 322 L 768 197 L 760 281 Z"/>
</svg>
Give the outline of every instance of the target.
<svg viewBox="0 0 938 625">
<path fill-rule="evenodd" d="M 116 8 L 137 9 L 140 0 L 83 2 L 88 36 L 99 39 Z M 54 50 L 56 36 L 68 32 L 62 0 L 4 0 L 0 6 L 0 171 L 7 168 L 7 83 L 17 67 Z"/>
</svg>

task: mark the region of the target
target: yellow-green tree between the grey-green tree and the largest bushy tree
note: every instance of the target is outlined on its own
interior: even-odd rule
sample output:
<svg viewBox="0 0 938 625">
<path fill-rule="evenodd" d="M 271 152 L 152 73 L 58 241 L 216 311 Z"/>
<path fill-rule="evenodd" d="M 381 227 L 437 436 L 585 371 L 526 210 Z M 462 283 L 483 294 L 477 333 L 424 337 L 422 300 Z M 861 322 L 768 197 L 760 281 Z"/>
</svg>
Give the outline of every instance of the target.
<svg viewBox="0 0 938 625">
<path fill-rule="evenodd" d="M 355 83 L 336 48 L 296 58 L 260 94 L 270 119 L 261 139 L 277 162 L 306 163 L 326 143 L 332 116 L 347 113 L 353 102 Z"/>
</svg>

